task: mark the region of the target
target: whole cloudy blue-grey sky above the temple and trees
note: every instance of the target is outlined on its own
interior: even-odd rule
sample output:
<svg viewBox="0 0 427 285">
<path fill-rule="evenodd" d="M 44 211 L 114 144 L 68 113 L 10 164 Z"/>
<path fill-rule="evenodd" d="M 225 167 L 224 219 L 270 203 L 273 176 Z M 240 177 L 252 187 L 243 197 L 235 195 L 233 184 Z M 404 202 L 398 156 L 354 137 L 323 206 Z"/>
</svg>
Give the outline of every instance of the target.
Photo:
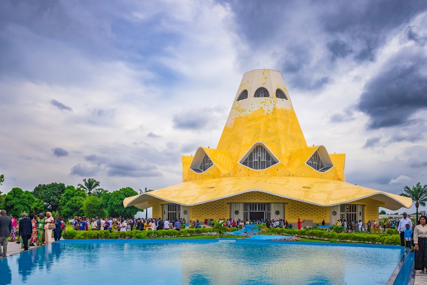
<svg viewBox="0 0 427 285">
<path fill-rule="evenodd" d="M 2 0 L 1 190 L 180 183 L 270 68 L 347 182 L 400 194 L 427 184 L 426 44 L 424 0 Z"/>
</svg>

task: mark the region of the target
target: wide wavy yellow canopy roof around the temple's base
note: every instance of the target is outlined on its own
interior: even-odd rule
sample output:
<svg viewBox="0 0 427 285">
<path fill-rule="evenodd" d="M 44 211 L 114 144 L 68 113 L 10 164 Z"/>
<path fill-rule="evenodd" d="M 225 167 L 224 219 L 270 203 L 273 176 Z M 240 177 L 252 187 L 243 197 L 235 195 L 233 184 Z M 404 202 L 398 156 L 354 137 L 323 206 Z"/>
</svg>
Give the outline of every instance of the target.
<svg viewBox="0 0 427 285">
<path fill-rule="evenodd" d="M 412 199 L 373 190 L 340 180 L 305 177 L 227 177 L 186 181 L 174 186 L 128 197 L 124 206 L 147 208 L 148 201 L 161 199 L 183 206 L 194 206 L 260 191 L 317 206 L 334 206 L 370 197 L 397 210 L 410 207 Z"/>
</svg>

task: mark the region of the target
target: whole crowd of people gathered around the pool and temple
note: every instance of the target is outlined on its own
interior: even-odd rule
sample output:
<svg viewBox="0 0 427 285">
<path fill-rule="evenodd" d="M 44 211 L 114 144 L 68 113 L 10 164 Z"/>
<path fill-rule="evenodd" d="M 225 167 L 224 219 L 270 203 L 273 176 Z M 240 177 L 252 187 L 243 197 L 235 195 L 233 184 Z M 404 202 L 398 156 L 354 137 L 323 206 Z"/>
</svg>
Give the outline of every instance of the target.
<svg viewBox="0 0 427 285">
<path fill-rule="evenodd" d="M 7 216 L 5 210 L 0 211 L 0 245 L 3 247 L 0 253 L 0 258 L 6 256 L 7 242 L 10 237 L 11 242 L 20 243 L 24 251 L 28 250 L 29 246 L 37 246 L 49 244 L 52 242 L 52 233 L 54 240 L 60 240 L 61 234 L 66 231 L 66 225 L 61 217 L 53 218 L 50 212 L 40 213 L 35 215 L 30 213 L 28 216 L 23 213 L 19 220 L 12 215 Z M 88 231 L 90 230 L 108 230 L 110 232 L 131 231 L 134 228 L 140 231 L 154 231 L 162 229 L 173 229 L 180 231 L 187 226 L 185 219 L 162 220 L 162 218 L 146 218 L 146 219 L 124 219 L 124 218 L 99 218 L 95 217 L 89 220 L 86 217 L 75 216 L 71 221 L 74 230 Z M 245 224 L 262 224 L 270 227 L 292 228 L 286 220 L 245 220 L 241 221 L 233 219 L 219 219 L 219 223 L 229 228 L 237 227 L 242 229 Z M 298 218 L 298 229 L 301 229 L 301 221 Z M 394 222 L 394 221 L 393 221 Z M 406 246 L 415 252 L 415 269 L 421 270 L 420 273 L 427 273 L 427 217 L 421 216 L 418 224 L 413 225 L 409 215 L 403 213 L 403 218 L 394 223 L 394 228 L 397 226 L 397 231 L 400 234 L 401 246 Z M 204 225 L 213 226 L 213 220 L 205 219 Z M 325 225 L 325 221 L 322 222 Z M 347 222 L 345 219 L 340 219 L 337 225 L 345 227 L 349 231 L 359 230 L 364 231 L 364 225 L 359 221 Z M 188 223 L 189 228 L 200 228 L 199 220 L 192 220 Z M 367 231 L 370 231 L 371 222 L 367 223 Z M 376 221 L 373 222 L 373 228 L 378 228 Z M 392 224 L 390 224 L 392 227 Z"/>
</svg>

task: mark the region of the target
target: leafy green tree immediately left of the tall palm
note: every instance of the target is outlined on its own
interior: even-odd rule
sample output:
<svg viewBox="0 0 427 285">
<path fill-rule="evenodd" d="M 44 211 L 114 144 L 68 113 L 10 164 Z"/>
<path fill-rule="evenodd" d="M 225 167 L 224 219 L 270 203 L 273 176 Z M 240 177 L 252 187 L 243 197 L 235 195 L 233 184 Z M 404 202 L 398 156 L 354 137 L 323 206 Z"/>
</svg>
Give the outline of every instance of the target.
<svg viewBox="0 0 427 285">
<path fill-rule="evenodd" d="M 74 216 L 82 216 L 83 202 L 86 199 L 86 192 L 74 186 L 67 186 L 59 203 L 59 215 L 64 219 L 70 219 Z"/>
</svg>

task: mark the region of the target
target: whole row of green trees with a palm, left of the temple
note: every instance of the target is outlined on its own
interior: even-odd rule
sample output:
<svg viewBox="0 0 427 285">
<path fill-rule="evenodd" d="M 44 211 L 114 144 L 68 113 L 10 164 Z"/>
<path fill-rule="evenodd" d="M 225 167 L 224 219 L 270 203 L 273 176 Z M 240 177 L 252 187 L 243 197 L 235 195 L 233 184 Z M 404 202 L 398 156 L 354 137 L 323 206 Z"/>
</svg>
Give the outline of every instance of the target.
<svg viewBox="0 0 427 285">
<path fill-rule="evenodd" d="M 4 175 L 0 174 L 0 186 L 3 181 Z M 38 214 L 49 211 L 66 220 L 74 216 L 131 218 L 140 209 L 135 206 L 125 208 L 123 200 L 137 194 L 130 187 L 110 192 L 99 188 L 99 181 L 89 178 L 83 179 L 77 187 L 53 182 L 39 184 L 32 191 L 20 188 L 12 188 L 6 194 L 0 191 L 0 209 L 14 217 L 20 217 L 24 212 Z"/>
</svg>

